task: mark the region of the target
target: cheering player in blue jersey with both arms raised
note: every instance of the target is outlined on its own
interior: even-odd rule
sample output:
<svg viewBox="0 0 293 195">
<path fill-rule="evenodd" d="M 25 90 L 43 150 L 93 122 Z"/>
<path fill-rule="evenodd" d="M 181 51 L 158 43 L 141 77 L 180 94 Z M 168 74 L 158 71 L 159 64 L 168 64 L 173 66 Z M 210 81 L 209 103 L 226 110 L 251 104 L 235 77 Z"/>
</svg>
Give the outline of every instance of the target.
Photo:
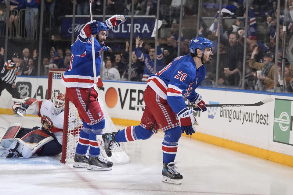
<svg viewBox="0 0 293 195">
<path fill-rule="evenodd" d="M 65 71 L 62 83 L 66 86 L 66 98 L 78 110 L 83 121 L 83 128 L 79 133 L 73 167 L 87 167 L 89 170 L 111 170 L 113 163 L 100 155 L 96 135 L 102 135 L 105 119 L 99 102 L 98 93 L 94 87 L 92 41 L 94 41 L 96 75 L 101 68 L 101 52 L 107 50 L 104 41 L 108 30 L 126 21 L 123 15 L 114 15 L 105 23 L 93 20 L 86 23 L 80 31 L 76 41 L 71 45 L 71 63 Z M 96 35 L 92 40 L 91 35 Z M 101 87 L 100 77 L 97 76 L 97 86 Z M 89 157 L 86 156 L 89 147 Z"/>
</svg>

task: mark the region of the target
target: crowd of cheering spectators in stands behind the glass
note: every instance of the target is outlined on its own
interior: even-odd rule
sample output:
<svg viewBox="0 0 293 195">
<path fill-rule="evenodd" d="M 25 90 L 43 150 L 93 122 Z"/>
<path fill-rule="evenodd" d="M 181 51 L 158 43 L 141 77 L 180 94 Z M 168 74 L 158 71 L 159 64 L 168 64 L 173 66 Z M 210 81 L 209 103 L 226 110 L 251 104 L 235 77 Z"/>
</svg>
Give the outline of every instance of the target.
<svg viewBox="0 0 293 195">
<path fill-rule="evenodd" d="M 33 0 L 39 3 L 37 0 Z M 132 0 L 105 0 L 106 15 L 113 14 L 131 14 Z M 10 9 L 22 9 L 28 5 L 22 0 L 10 1 Z M 19 4 L 17 4 L 19 2 Z M 93 14 L 101 15 L 103 10 L 103 0 L 94 0 Z M 244 88 L 249 90 L 273 90 L 275 66 L 277 68 L 278 82 L 277 87 L 285 87 L 288 92 L 293 89 L 293 1 L 289 1 L 288 14 L 288 31 L 287 31 L 287 53 L 282 56 L 283 46 L 283 22 L 284 22 L 284 2 L 281 1 L 280 21 L 277 21 L 277 3 L 276 0 L 253 0 L 251 1 L 248 16 L 245 14 L 245 2 L 242 0 L 222 1 L 222 19 L 219 21 L 219 3 L 215 0 L 207 0 L 202 2 L 201 17 L 214 18 L 213 22 L 208 22 L 200 18 L 198 30 L 194 30 L 192 37 L 185 36 L 182 27 L 181 40 L 179 44 L 179 17 L 180 17 L 181 0 L 160 0 L 160 16 L 163 21 L 161 28 L 168 29 L 168 33 L 159 34 L 157 48 L 155 48 L 154 39 L 141 39 L 136 37 L 133 41 L 133 49 L 130 51 L 129 40 L 124 42 L 109 42 L 110 47 L 103 52 L 104 62 L 101 72 L 102 79 L 107 80 L 128 80 L 130 81 L 146 81 L 147 77 L 157 72 L 162 67 L 168 65 L 174 58 L 179 55 L 188 55 L 190 39 L 195 37 L 196 31 L 200 37 L 210 39 L 214 46 L 214 55 L 212 56 L 212 64 L 206 65 L 207 75 L 202 83 L 203 86 L 232 87 L 241 88 L 244 72 Z M 16 5 L 17 4 L 17 5 Z M 65 6 L 71 9 L 65 9 Z M 197 16 L 198 2 L 191 0 L 183 0 L 183 19 L 188 16 Z M 64 7 L 64 9 L 63 9 Z M 77 15 L 89 14 L 89 3 L 85 0 L 77 0 Z M 62 0 L 55 2 L 54 0 L 45 0 L 45 9 L 51 13 L 52 22 L 58 23 L 58 17 L 61 15 L 58 10 L 63 9 L 62 15 L 72 14 L 72 2 Z M 134 0 L 135 15 L 156 15 L 156 0 Z M 11 24 L 13 24 L 11 17 Z M 31 16 L 30 16 L 31 17 Z M 224 18 L 223 18 L 224 17 Z M 247 37 L 245 36 L 245 20 L 248 21 Z M 10 20 L 9 20 L 10 21 Z M 196 19 L 194 19 L 196 23 Z M 280 28 L 277 29 L 277 23 Z M 220 28 L 220 30 L 219 30 Z M 220 31 L 220 32 L 219 32 Z M 279 37 L 276 37 L 277 31 Z M 218 37 L 220 42 L 218 43 Z M 246 39 L 246 47 L 244 47 L 244 39 Z M 276 40 L 279 45 L 276 45 Z M 219 51 L 217 46 L 219 44 Z M 42 59 L 41 76 L 46 76 L 50 68 L 68 68 L 71 60 L 70 45 L 68 48 L 52 47 L 48 55 Z M 246 48 L 246 56 L 244 59 L 244 48 Z M 275 51 L 279 55 L 275 56 Z M 216 56 L 219 53 L 219 71 L 218 80 L 216 79 Z M 23 65 L 21 66 L 20 75 L 36 75 L 37 52 L 30 52 L 27 48 L 23 51 Z M 132 60 L 130 67 L 131 74 L 129 76 L 129 56 Z M 154 59 L 156 60 L 156 70 L 154 70 Z M 275 64 L 275 58 L 278 58 L 278 64 Z M 282 81 L 281 60 L 285 59 L 285 75 Z M 243 62 L 246 62 L 243 66 Z M 245 67 L 243 69 L 243 67 Z"/>
</svg>

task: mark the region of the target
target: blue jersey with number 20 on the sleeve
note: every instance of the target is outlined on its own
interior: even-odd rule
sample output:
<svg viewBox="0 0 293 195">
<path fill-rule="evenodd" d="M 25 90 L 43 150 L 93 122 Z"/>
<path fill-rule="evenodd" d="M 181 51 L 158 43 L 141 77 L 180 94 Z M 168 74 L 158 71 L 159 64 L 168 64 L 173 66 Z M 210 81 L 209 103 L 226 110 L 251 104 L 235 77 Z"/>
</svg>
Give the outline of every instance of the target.
<svg viewBox="0 0 293 195">
<path fill-rule="evenodd" d="M 168 101 L 177 114 L 186 103 L 183 98 L 194 101 L 195 89 L 204 80 L 206 70 L 204 65 L 196 68 L 191 55 L 179 56 L 156 74 L 151 74 L 147 80 L 149 85 L 161 98 Z"/>
</svg>

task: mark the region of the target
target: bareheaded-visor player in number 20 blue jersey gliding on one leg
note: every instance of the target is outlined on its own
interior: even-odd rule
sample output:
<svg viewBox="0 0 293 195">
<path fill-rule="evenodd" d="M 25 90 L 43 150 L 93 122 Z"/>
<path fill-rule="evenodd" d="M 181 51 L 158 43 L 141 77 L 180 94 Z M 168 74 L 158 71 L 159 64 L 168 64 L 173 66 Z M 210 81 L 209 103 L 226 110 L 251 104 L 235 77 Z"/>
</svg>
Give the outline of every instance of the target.
<svg viewBox="0 0 293 195">
<path fill-rule="evenodd" d="M 205 63 L 210 62 L 212 43 L 202 37 L 195 37 L 189 45 L 191 55 L 175 58 L 156 74 L 149 76 L 143 99 L 145 109 L 139 126 L 129 126 L 115 133 L 102 135 L 105 151 L 111 156 L 115 142 L 146 140 L 161 129 L 164 133 L 163 182 L 181 184 L 183 176 L 176 171 L 175 156 L 182 133 L 194 133 L 198 125 L 193 110 L 186 107 L 187 98 L 195 110 L 206 111 L 200 94 L 195 92 L 204 80 Z"/>
</svg>

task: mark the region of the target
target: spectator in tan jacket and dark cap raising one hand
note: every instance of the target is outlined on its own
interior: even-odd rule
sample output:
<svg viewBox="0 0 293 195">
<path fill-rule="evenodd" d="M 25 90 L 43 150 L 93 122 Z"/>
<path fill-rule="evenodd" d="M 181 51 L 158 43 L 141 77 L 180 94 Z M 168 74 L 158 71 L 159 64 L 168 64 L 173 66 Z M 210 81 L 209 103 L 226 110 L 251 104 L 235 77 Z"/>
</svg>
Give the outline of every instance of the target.
<svg viewBox="0 0 293 195">
<path fill-rule="evenodd" d="M 255 62 L 255 55 L 258 53 L 258 47 L 255 47 L 252 51 L 251 57 L 248 61 L 251 68 L 261 70 L 261 74 L 257 74 L 257 82 L 255 90 L 266 91 L 266 89 L 273 88 L 274 76 L 275 76 L 275 65 L 274 65 L 274 54 L 273 52 L 266 52 L 263 57 L 263 63 Z"/>
</svg>

